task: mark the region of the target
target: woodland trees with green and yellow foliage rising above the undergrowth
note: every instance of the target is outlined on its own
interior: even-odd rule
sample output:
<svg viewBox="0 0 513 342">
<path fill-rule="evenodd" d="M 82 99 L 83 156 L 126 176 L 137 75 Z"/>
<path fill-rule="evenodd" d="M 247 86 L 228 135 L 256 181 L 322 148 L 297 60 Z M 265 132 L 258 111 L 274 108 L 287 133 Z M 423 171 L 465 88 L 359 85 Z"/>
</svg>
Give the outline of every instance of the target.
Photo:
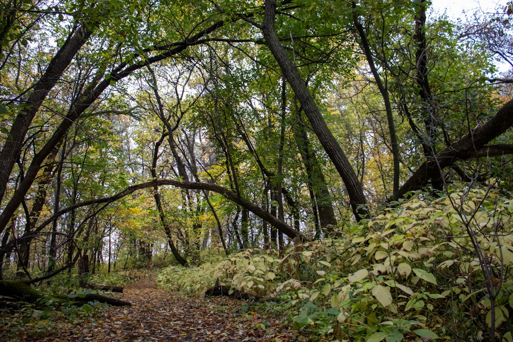
<svg viewBox="0 0 513 342">
<path fill-rule="evenodd" d="M 465 25 L 424 0 L 2 6 L 0 278 L 283 250 L 416 191 L 511 190 L 510 4 Z"/>
</svg>

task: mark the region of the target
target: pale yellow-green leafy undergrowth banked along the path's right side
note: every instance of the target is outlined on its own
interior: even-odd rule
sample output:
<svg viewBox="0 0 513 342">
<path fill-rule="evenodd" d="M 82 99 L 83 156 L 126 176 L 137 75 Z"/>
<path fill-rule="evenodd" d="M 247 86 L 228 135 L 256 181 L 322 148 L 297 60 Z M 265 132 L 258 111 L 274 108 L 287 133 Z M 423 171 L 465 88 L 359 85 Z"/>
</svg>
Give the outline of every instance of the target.
<svg viewBox="0 0 513 342">
<path fill-rule="evenodd" d="M 282 255 L 246 250 L 199 267 L 169 267 L 157 280 L 203 295 L 219 278 L 264 296 L 260 310 L 289 319 L 313 340 L 484 341 L 493 324 L 497 340 L 512 341 L 512 214 L 512 200 L 482 190 L 417 194 L 339 238 L 294 244 Z"/>
</svg>

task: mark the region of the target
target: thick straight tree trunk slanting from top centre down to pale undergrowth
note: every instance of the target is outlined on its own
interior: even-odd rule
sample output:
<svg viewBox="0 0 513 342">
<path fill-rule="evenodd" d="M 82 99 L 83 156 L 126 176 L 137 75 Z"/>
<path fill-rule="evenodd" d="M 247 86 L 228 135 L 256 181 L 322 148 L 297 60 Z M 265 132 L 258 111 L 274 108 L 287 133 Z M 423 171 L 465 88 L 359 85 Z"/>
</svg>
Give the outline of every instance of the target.
<svg viewBox="0 0 513 342">
<path fill-rule="evenodd" d="M 298 97 L 303 110 L 308 117 L 315 135 L 319 138 L 319 142 L 328 154 L 331 162 L 339 172 L 349 195 L 354 217 L 359 221 L 363 218 L 370 217 L 367 210 L 367 200 L 363 194 L 363 188 L 360 184 L 354 169 L 347 159 L 344 151 L 340 147 L 337 139 L 329 130 L 324 118 L 315 101 L 310 94 L 305 82 L 301 78 L 298 69 L 293 65 L 290 57 L 280 43 L 276 33 L 274 32 L 274 19 L 276 15 L 276 0 L 266 0 L 264 22 L 262 25 L 262 33 L 265 41 L 269 46 L 269 50 L 278 62 L 283 75 L 294 90 Z"/>
</svg>

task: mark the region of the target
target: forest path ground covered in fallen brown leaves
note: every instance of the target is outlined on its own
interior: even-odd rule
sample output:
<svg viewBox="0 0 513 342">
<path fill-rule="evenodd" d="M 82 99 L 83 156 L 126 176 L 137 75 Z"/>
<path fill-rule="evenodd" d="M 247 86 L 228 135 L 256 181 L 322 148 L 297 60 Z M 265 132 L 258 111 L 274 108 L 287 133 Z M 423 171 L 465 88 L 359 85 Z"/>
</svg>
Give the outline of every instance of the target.
<svg viewBox="0 0 513 342">
<path fill-rule="evenodd" d="M 83 320 L 53 317 L 41 328 L 14 325 L 13 318 L 0 312 L 1 342 L 203 342 L 203 341 L 307 341 L 284 325 L 284 319 L 266 317 L 242 309 L 245 301 L 228 297 L 187 297 L 156 287 L 151 279 L 141 280 L 116 295 L 131 307 L 108 307 Z M 4 316 L 4 317 L 2 317 Z M 18 319 L 18 318 L 16 318 Z M 60 321 L 62 320 L 62 321 Z M 50 322 L 50 323 L 49 323 Z M 38 328 L 39 327 L 39 328 Z M 2 332 L 2 330 L 5 330 Z"/>
</svg>

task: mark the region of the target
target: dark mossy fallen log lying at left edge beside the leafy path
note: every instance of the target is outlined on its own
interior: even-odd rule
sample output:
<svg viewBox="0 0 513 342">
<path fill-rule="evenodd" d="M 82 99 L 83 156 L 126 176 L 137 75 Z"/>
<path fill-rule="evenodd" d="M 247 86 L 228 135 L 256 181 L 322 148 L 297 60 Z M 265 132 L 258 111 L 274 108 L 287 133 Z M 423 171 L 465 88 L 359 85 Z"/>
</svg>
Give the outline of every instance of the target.
<svg viewBox="0 0 513 342">
<path fill-rule="evenodd" d="M 23 300 L 28 303 L 42 304 L 45 301 L 51 301 L 52 304 L 62 305 L 71 303 L 74 305 L 84 305 L 89 301 L 99 301 L 112 306 L 130 306 L 128 301 L 103 296 L 97 293 L 84 293 L 84 294 L 68 294 L 57 295 L 47 294 L 30 287 L 29 284 L 23 281 L 0 281 L 0 295 L 10 297 L 16 300 Z"/>
</svg>

